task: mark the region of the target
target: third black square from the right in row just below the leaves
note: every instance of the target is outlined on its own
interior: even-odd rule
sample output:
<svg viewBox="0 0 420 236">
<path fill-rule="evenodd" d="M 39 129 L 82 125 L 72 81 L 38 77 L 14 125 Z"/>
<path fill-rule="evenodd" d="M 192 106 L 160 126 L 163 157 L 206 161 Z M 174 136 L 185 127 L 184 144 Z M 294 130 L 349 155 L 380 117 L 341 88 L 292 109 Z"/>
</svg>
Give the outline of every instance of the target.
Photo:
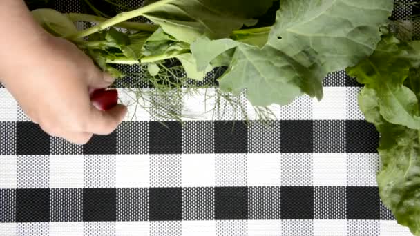
<svg viewBox="0 0 420 236">
<path fill-rule="evenodd" d="M 215 121 L 215 153 L 247 153 L 248 127 L 242 121 Z"/>
</svg>

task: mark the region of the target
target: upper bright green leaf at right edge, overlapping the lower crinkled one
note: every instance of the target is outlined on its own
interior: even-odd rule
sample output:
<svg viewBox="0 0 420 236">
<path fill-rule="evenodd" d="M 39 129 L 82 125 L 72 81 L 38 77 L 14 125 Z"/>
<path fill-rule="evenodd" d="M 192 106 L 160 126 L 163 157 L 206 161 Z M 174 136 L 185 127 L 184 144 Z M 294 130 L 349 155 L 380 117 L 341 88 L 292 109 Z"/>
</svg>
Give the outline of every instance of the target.
<svg viewBox="0 0 420 236">
<path fill-rule="evenodd" d="M 348 75 L 376 92 L 379 112 L 386 121 L 412 129 L 420 129 L 416 95 L 419 93 L 419 77 L 412 72 L 412 68 L 420 66 L 417 45 L 385 35 L 371 57 L 347 68 Z"/>
</svg>

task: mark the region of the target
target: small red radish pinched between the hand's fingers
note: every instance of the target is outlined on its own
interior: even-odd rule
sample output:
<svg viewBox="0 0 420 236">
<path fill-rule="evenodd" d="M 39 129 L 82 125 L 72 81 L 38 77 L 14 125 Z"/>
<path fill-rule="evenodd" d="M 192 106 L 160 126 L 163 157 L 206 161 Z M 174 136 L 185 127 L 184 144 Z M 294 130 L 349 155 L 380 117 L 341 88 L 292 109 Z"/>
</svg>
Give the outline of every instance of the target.
<svg viewBox="0 0 420 236">
<path fill-rule="evenodd" d="M 90 100 L 97 109 L 109 110 L 118 103 L 118 91 L 106 88 L 97 89 L 90 93 Z"/>
</svg>

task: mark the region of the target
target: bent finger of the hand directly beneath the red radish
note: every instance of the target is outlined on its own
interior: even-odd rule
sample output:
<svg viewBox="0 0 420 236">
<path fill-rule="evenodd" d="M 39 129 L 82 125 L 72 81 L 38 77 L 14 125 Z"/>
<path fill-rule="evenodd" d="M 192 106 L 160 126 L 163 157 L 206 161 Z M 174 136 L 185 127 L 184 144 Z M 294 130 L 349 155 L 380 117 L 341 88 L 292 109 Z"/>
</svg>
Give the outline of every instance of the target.
<svg viewBox="0 0 420 236">
<path fill-rule="evenodd" d="M 97 135 L 109 135 L 122 122 L 126 116 L 127 108 L 121 104 L 107 110 L 106 112 L 97 110 L 95 106 L 90 109 L 86 132 Z"/>
</svg>

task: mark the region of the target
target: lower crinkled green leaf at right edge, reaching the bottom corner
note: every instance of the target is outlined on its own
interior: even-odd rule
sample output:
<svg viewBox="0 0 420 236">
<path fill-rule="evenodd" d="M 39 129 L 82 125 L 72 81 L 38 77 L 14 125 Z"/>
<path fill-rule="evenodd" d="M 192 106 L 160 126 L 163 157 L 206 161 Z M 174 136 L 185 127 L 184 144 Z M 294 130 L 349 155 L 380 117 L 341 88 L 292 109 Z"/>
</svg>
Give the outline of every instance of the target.
<svg viewBox="0 0 420 236">
<path fill-rule="evenodd" d="M 420 130 L 385 121 L 380 100 L 372 88 L 363 88 L 359 95 L 361 111 L 381 133 L 379 195 L 399 224 L 420 235 Z"/>
</svg>

